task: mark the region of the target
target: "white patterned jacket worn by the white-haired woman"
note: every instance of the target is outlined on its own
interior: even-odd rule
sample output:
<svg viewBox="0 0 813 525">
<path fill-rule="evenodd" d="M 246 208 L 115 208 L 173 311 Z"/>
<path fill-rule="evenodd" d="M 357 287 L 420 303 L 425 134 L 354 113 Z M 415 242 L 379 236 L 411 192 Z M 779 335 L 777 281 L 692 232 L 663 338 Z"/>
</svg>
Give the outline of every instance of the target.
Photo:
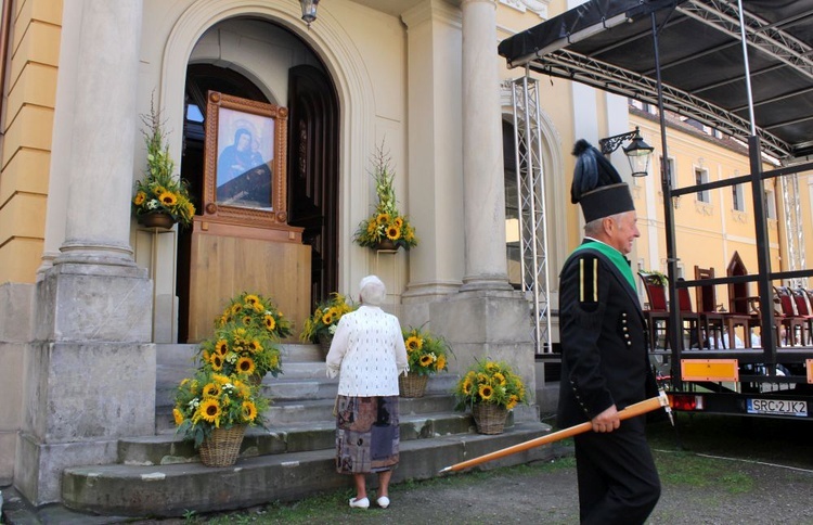
<svg viewBox="0 0 813 525">
<path fill-rule="evenodd" d="M 409 370 L 398 318 L 377 306 L 361 306 L 345 313 L 326 364 L 328 377 L 339 374 L 341 396 L 397 396 L 398 375 Z"/>
</svg>

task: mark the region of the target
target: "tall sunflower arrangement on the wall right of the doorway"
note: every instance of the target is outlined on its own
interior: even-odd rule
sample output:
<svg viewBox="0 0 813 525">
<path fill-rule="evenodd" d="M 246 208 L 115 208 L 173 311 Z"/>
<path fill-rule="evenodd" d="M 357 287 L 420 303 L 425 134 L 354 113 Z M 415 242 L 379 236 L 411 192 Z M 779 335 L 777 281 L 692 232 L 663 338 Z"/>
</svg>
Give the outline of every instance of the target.
<svg viewBox="0 0 813 525">
<path fill-rule="evenodd" d="M 353 241 L 360 246 L 371 248 L 389 241 L 396 248 L 403 246 L 404 249 L 410 249 L 417 245 L 417 238 L 409 219 L 398 212 L 396 191 L 392 188 L 395 170 L 389 155 L 384 152 L 384 144 L 376 150 L 374 163 L 375 168 L 372 175 L 375 180 L 378 204 L 373 215 L 359 223 Z"/>
</svg>

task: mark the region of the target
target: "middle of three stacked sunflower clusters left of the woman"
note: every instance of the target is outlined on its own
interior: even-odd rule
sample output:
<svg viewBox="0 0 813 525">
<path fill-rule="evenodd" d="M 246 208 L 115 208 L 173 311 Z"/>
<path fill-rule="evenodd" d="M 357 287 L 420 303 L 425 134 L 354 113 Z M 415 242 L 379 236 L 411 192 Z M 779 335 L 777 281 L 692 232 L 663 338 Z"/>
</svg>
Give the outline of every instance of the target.
<svg viewBox="0 0 813 525">
<path fill-rule="evenodd" d="M 280 348 L 261 326 L 231 321 L 215 329 L 201 343 L 197 360 L 202 369 L 223 375 L 244 374 L 259 377 L 282 373 Z"/>
</svg>

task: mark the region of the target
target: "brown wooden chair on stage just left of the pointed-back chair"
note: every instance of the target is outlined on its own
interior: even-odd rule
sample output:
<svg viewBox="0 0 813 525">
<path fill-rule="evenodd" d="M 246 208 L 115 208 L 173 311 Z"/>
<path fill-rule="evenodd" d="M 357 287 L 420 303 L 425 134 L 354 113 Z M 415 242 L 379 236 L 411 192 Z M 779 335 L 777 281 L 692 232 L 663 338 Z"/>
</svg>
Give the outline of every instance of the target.
<svg viewBox="0 0 813 525">
<path fill-rule="evenodd" d="M 700 268 L 695 266 L 695 279 L 707 280 L 714 279 L 713 268 Z M 751 317 L 740 313 L 731 313 L 718 311 L 717 309 L 717 291 L 713 284 L 704 284 L 697 286 L 697 312 L 700 315 L 706 336 L 709 338 L 709 347 L 726 347 L 725 337 L 728 336 L 728 348 L 736 347 L 736 328 L 743 326 L 744 340 L 743 345 L 746 348 L 751 347 Z M 719 335 L 719 340 L 718 340 Z"/>
</svg>

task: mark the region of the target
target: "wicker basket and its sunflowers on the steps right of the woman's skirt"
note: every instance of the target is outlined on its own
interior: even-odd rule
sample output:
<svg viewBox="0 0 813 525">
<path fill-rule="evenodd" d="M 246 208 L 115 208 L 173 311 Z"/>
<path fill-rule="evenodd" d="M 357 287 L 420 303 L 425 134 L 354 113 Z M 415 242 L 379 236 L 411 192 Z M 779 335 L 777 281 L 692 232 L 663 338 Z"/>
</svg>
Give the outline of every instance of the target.
<svg viewBox="0 0 813 525">
<path fill-rule="evenodd" d="M 508 411 L 528 402 L 522 379 L 503 361 L 476 361 L 454 387 L 455 410 L 472 409 L 477 432 L 501 434 Z"/>
</svg>

